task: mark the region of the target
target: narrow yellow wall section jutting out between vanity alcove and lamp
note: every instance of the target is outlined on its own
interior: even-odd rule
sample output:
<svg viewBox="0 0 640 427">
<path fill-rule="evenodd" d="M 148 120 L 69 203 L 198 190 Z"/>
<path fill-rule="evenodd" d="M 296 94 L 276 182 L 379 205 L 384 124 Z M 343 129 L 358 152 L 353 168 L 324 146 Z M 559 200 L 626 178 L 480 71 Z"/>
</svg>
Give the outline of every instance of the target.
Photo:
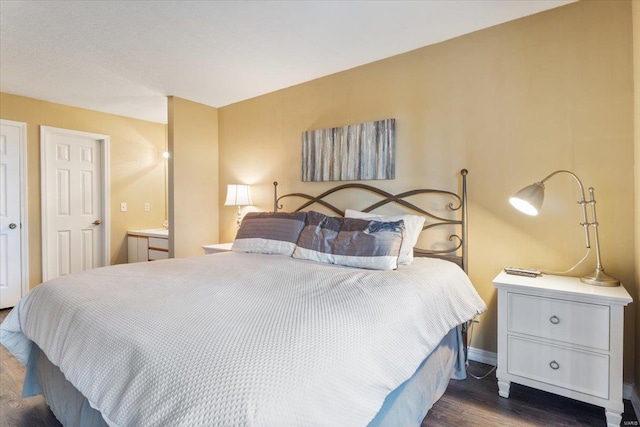
<svg viewBox="0 0 640 427">
<path fill-rule="evenodd" d="M 169 254 L 218 242 L 218 110 L 169 97 Z"/>
</svg>

